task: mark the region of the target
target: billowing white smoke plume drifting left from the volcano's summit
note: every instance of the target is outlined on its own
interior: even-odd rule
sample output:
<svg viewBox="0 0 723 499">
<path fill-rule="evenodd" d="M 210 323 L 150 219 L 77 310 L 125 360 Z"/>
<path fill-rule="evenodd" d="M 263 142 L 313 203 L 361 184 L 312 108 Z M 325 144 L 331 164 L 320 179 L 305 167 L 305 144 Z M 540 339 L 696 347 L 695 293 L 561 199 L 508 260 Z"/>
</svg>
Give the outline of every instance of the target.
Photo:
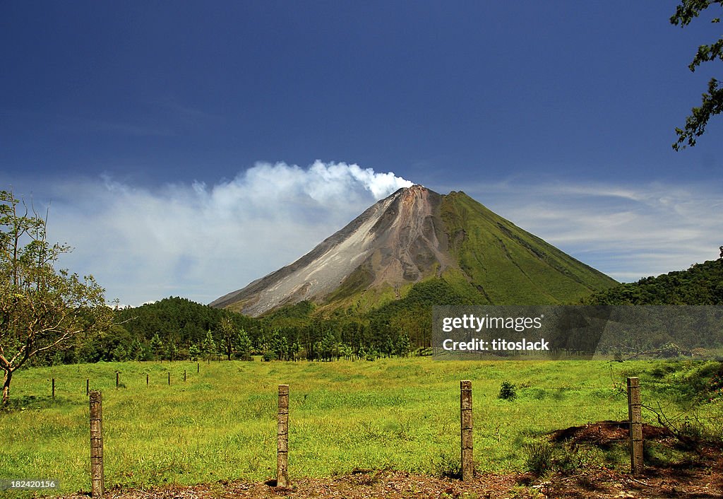
<svg viewBox="0 0 723 499">
<path fill-rule="evenodd" d="M 140 188 L 111 178 L 47 187 L 61 260 L 93 274 L 106 298 L 168 295 L 208 303 L 295 259 L 411 182 L 356 164 L 257 163 L 215 185 Z"/>
</svg>

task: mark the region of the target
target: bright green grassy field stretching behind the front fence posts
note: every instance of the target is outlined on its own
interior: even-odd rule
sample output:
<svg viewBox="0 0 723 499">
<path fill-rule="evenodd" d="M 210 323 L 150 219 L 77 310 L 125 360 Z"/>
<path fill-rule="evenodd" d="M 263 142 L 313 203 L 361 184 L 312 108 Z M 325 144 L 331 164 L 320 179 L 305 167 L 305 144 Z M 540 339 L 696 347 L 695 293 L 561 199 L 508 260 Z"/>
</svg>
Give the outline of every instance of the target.
<svg viewBox="0 0 723 499">
<path fill-rule="evenodd" d="M 53 478 L 61 492 L 90 490 L 86 379 L 103 391 L 106 487 L 145 487 L 275 477 L 280 383 L 291 392 L 292 479 L 355 468 L 455 471 L 460 380 L 473 382 L 476 469 L 523 471 L 526 449 L 545 432 L 627 419 L 625 376 L 649 368 L 645 362 L 409 358 L 222 361 L 202 363 L 198 373 L 189 362 L 25 369 L 13 379 L 12 410 L 0 412 L 0 479 Z M 514 400 L 497 398 L 502 381 L 516 385 Z M 618 457 L 625 466 L 625 454 Z"/>
</svg>

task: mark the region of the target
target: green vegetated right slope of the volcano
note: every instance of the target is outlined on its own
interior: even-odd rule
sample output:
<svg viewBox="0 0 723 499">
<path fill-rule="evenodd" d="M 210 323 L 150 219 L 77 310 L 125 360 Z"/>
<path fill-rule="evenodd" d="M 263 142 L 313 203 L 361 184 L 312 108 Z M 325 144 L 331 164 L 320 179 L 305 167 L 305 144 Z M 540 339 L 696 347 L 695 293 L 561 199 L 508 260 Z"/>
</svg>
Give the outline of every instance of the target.
<svg viewBox="0 0 723 499">
<path fill-rule="evenodd" d="M 443 272 L 435 272 L 439 270 L 435 267 L 422 282 L 410 282 L 396 290 L 367 288 L 368 274 L 359 268 L 328 296 L 322 310 L 348 307 L 350 311 L 368 311 L 380 306 L 401 309 L 419 303 L 415 298 L 413 303 L 390 304 L 407 293 L 427 296 L 424 306 L 576 303 L 617 284 L 463 192 L 442 196 L 436 215 L 437 238 L 446 241 L 455 266 Z M 437 283 L 432 285 L 430 281 Z M 432 290 L 440 293 L 438 297 L 430 294 Z"/>
</svg>

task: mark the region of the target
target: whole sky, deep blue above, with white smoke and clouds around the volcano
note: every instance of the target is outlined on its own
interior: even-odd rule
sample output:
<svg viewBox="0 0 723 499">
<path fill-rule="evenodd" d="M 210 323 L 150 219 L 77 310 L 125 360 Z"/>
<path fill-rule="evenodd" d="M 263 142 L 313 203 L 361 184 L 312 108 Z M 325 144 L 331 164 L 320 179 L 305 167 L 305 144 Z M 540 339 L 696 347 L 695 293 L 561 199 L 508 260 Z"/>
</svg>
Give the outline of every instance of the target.
<svg viewBox="0 0 723 499">
<path fill-rule="evenodd" d="M 687 268 L 723 244 L 723 117 L 671 144 L 721 25 L 676 4 L 3 2 L 0 184 L 133 305 L 241 288 L 400 179 L 618 280 Z"/>
</svg>

